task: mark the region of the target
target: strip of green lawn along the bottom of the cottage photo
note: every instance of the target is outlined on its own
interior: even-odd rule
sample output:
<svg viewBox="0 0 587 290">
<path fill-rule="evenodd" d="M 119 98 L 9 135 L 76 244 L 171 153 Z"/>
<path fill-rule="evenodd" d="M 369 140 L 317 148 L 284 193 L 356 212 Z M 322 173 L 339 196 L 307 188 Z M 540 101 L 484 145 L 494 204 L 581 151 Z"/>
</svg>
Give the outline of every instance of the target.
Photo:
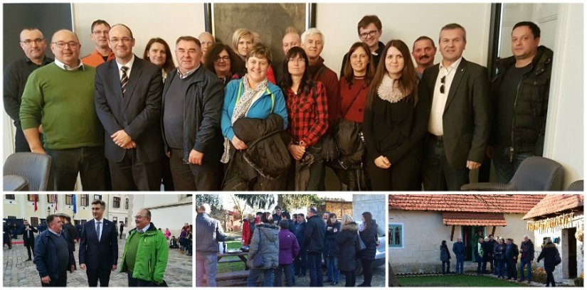
<svg viewBox="0 0 587 290">
<path fill-rule="evenodd" d="M 527 287 L 528 284 L 517 284 L 510 281 L 495 279 L 488 276 L 416 276 L 398 277 L 404 287 Z"/>
</svg>

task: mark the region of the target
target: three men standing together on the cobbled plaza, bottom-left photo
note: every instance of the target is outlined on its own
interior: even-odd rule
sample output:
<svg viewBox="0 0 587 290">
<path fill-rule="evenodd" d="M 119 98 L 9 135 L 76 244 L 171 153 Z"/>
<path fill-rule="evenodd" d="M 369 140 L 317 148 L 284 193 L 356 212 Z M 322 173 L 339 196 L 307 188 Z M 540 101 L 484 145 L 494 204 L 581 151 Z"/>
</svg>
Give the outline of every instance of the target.
<svg viewBox="0 0 587 290">
<path fill-rule="evenodd" d="M 93 219 L 82 225 L 81 234 L 67 215 L 48 215 L 47 228 L 36 230 L 24 220 L 23 241 L 28 260 L 33 262 L 41 278 L 41 286 L 65 287 L 67 272 L 78 269 L 75 243 L 79 241 L 79 269 L 85 270 L 88 286 L 107 287 L 110 273 L 118 269 L 118 229 L 115 222 L 104 218 L 105 202 L 94 200 Z M 130 230 L 122 254 L 120 272 L 126 272 L 129 286 L 161 286 L 167 264 L 168 248 L 164 234 L 151 222 L 151 212 L 142 209 L 134 216 L 136 228 Z M 35 236 L 35 232 L 39 232 Z"/>
</svg>

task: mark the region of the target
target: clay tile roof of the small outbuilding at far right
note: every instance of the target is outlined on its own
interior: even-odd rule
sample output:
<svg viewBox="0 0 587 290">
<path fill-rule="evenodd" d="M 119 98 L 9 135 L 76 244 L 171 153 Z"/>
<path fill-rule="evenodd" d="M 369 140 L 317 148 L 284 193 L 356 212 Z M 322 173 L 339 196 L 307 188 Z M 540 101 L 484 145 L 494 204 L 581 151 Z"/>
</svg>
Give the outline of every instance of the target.
<svg viewBox="0 0 587 290">
<path fill-rule="evenodd" d="M 524 220 L 536 218 L 541 215 L 560 213 L 564 210 L 581 208 L 583 210 L 583 194 L 549 194 L 540 200 L 534 208 L 524 215 Z"/>
</svg>

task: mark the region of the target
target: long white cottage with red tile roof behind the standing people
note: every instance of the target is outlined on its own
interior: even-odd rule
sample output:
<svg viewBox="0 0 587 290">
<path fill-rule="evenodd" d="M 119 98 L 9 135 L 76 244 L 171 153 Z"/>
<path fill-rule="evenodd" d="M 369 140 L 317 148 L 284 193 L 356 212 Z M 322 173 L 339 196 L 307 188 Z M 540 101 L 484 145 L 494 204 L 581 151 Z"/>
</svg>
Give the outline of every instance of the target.
<svg viewBox="0 0 587 290">
<path fill-rule="evenodd" d="M 527 194 L 389 195 L 388 252 L 396 274 L 437 272 L 440 243 L 465 242 L 465 261 L 472 261 L 475 235 L 511 237 L 519 245 L 532 235 L 522 218 L 544 198 Z M 451 259 L 454 269 L 455 258 Z"/>
</svg>

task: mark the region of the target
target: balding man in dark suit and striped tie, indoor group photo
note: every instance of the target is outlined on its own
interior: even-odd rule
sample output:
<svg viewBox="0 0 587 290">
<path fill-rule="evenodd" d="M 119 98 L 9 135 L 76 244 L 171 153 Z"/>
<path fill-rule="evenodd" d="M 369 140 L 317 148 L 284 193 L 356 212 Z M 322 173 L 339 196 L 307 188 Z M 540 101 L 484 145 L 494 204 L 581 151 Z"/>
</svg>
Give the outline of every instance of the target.
<svg viewBox="0 0 587 290">
<path fill-rule="evenodd" d="M 110 28 L 116 58 L 96 68 L 96 112 L 105 129 L 112 190 L 159 190 L 162 70 L 132 53 L 124 24 Z"/>
</svg>

